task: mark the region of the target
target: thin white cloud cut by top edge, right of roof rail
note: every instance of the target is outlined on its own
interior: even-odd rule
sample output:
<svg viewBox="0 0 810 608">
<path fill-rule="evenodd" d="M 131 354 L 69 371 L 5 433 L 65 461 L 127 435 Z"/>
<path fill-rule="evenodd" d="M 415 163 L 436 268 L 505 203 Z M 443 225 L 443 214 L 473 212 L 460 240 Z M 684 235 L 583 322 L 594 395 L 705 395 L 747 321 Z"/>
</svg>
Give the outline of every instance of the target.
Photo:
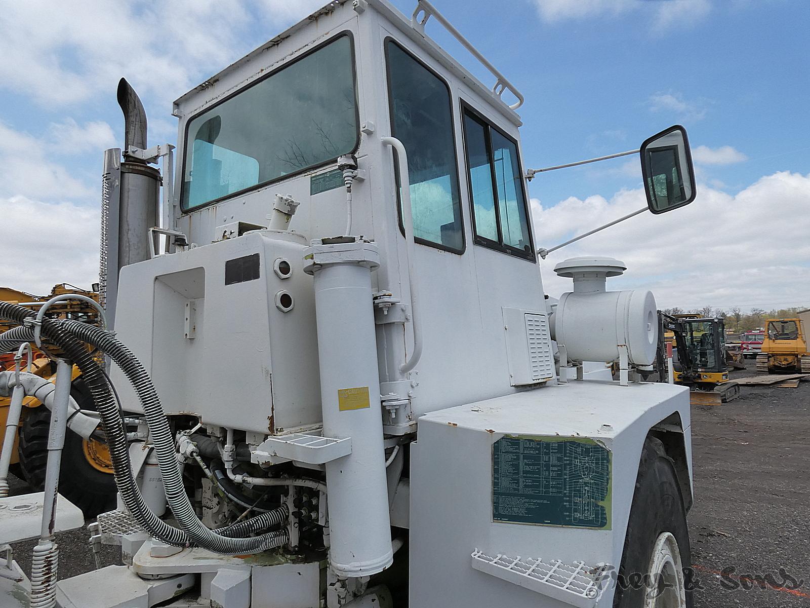
<svg viewBox="0 0 810 608">
<path fill-rule="evenodd" d="M 540 16 L 555 22 L 564 19 L 598 18 L 632 11 L 646 11 L 656 30 L 693 24 L 709 13 L 709 0 L 535 0 Z"/>
</svg>

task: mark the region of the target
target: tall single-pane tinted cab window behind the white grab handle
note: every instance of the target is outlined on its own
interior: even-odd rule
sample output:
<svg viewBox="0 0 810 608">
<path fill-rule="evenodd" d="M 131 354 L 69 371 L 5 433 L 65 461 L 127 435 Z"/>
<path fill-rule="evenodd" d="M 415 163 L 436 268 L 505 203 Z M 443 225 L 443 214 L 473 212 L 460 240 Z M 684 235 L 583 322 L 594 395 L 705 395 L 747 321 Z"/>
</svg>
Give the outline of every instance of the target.
<svg viewBox="0 0 810 608">
<path fill-rule="evenodd" d="M 392 135 L 407 150 L 414 236 L 462 251 L 453 115 L 447 85 L 393 41 L 386 43 Z"/>
</svg>

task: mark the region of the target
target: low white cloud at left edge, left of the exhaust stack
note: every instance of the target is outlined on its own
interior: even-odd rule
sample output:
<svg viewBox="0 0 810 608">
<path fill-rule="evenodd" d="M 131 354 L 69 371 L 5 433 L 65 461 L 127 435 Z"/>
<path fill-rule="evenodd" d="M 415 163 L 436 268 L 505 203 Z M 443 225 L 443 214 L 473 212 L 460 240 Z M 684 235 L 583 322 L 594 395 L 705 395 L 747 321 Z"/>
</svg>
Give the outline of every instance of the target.
<svg viewBox="0 0 810 608">
<path fill-rule="evenodd" d="M 0 216 L 0 285 L 45 295 L 58 283 L 89 289 L 98 280 L 97 208 L 12 196 L 0 198 Z"/>
</svg>

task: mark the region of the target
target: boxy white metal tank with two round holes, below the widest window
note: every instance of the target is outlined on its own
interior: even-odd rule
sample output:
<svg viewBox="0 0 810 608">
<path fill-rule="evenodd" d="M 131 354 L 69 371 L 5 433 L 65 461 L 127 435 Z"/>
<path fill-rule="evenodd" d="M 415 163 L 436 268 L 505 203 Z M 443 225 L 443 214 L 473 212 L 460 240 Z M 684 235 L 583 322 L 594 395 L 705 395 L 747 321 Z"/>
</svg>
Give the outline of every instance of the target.
<svg viewBox="0 0 810 608">
<path fill-rule="evenodd" d="M 254 232 L 122 269 L 116 331 L 149 370 L 167 413 L 193 413 L 203 422 L 266 434 L 320 425 L 318 341 L 304 246 L 299 235 Z M 228 261 L 253 255 L 258 279 L 226 285 Z M 279 257 L 290 263 L 288 278 L 273 272 Z M 275 306 L 280 290 L 294 299 L 287 313 Z M 194 339 L 186 337 L 189 301 Z M 140 411 L 117 368 L 113 381 L 125 409 Z"/>
</svg>

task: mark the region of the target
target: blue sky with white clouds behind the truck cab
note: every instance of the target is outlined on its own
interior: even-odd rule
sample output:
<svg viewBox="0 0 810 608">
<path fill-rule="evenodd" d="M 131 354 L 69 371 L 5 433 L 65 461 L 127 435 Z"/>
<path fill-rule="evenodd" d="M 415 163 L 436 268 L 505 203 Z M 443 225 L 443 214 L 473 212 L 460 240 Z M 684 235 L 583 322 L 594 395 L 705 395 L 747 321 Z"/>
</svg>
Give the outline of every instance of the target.
<svg viewBox="0 0 810 608">
<path fill-rule="evenodd" d="M 172 101 L 323 0 L 9 2 L 0 12 L 0 285 L 48 293 L 98 275 L 100 173 L 122 145 L 117 81 L 147 109 L 151 144 L 177 138 Z M 407 15 L 416 2 L 394 0 Z M 810 308 L 810 2 L 433 0 L 511 80 L 523 164 L 541 168 L 689 132 L 697 199 L 644 213 L 548 256 L 626 263 L 608 289 L 660 308 Z M 492 77 L 435 22 L 427 33 Z M 645 206 L 637 156 L 539 174 L 538 246 Z"/>
</svg>

